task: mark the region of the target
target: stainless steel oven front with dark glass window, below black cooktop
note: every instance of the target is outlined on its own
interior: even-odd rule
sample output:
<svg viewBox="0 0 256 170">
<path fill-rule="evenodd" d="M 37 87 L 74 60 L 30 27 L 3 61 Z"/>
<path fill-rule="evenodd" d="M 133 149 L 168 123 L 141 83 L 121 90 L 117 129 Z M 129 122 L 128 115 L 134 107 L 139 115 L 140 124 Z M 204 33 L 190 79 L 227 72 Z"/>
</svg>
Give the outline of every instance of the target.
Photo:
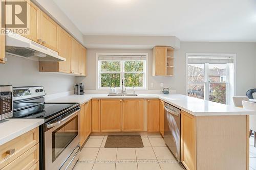
<svg viewBox="0 0 256 170">
<path fill-rule="evenodd" d="M 80 109 L 44 124 L 44 169 L 72 169 L 80 153 Z"/>
</svg>

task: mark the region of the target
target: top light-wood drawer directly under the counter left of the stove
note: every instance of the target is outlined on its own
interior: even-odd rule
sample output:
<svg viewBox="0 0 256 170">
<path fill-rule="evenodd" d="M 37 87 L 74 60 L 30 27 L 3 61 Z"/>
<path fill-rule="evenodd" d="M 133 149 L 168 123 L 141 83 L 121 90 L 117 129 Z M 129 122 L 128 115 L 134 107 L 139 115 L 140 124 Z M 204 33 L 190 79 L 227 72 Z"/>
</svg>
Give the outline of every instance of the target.
<svg viewBox="0 0 256 170">
<path fill-rule="evenodd" d="M 35 128 L 0 146 L 0 169 L 24 154 L 39 141 L 38 128 Z"/>
</svg>

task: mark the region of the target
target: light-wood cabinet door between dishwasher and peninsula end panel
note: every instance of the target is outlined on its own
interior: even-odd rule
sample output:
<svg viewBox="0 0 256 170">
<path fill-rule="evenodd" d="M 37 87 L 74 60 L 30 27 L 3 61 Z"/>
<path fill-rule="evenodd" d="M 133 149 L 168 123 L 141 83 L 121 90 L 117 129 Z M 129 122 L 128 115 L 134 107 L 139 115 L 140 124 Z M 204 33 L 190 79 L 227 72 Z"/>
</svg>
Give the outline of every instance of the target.
<svg viewBox="0 0 256 170">
<path fill-rule="evenodd" d="M 196 169 L 196 117 L 181 112 L 181 162 L 188 170 Z"/>
</svg>

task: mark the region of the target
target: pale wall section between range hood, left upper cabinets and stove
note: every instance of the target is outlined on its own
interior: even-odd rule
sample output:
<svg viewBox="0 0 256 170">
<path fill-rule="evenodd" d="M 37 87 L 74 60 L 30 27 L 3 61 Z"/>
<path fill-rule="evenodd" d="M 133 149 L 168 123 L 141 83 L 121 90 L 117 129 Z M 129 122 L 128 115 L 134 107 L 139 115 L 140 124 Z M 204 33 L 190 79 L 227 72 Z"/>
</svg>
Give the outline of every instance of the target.
<svg viewBox="0 0 256 170">
<path fill-rule="evenodd" d="M 38 71 L 38 61 L 7 55 L 0 64 L 0 85 L 45 87 L 47 94 L 74 90 L 74 76 Z"/>
</svg>

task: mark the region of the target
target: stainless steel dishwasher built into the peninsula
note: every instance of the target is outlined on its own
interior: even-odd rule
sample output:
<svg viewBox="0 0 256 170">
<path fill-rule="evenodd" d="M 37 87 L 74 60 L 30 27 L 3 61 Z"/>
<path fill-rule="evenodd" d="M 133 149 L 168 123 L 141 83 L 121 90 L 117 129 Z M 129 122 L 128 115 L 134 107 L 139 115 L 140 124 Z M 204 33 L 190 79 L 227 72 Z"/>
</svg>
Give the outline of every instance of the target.
<svg viewBox="0 0 256 170">
<path fill-rule="evenodd" d="M 164 141 L 179 162 L 181 161 L 180 129 L 180 109 L 169 105 L 168 103 L 164 103 Z"/>
</svg>

